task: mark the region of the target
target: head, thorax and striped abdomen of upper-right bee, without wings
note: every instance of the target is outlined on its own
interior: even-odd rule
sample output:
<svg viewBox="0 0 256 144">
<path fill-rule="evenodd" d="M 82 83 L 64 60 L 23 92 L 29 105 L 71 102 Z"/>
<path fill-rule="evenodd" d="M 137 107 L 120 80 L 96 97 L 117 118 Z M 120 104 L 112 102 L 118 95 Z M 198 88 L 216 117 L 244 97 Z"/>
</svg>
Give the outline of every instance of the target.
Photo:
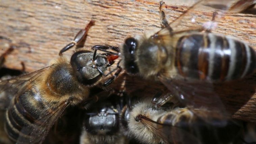
<svg viewBox="0 0 256 144">
<path fill-rule="evenodd" d="M 127 44 L 123 46 L 124 68 L 146 78 L 181 76 L 219 82 L 244 78 L 255 70 L 255 51 L 230 36 L 182 31 L 135 37 L 133 44 L 133 53 Z"/>
</svg>

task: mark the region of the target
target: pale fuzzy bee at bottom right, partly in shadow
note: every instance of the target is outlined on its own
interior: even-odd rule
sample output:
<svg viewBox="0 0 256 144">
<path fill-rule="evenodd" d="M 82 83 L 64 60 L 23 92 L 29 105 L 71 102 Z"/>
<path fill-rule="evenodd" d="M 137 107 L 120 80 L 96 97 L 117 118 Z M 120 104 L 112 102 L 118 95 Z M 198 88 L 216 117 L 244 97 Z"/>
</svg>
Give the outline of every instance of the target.
<svg viewBox="0 0 256 144">
<path fill-rule="evenodd" d="M 142 99 L 130 111 L 128 129 L 139 142 L 147 144 L 228 144 L 241 143 L 242 125 L 228 120 L 223 125 L 218 115 L 207 109 L 195 109 L 200 117 L 186 107 L 159 107 Z M 202 117 L 211 117 L 207 123 Z"/>
</svg>

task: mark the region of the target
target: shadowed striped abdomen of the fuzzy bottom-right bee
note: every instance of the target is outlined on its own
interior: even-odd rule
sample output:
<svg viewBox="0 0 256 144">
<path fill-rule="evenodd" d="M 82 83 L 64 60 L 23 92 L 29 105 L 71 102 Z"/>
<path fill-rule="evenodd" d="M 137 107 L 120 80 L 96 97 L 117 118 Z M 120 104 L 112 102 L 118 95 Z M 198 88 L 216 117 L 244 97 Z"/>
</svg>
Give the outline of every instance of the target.
<svg viewBox="0 0 256 144">
<path fill-rule="evenodd" d="M 230 144 L 239 138 L 240 126 L 232 121 L 223 123 L 218 115 L 204 109 L 194 109 L 200 115 L 194 114 L 188 108 L 176 109 L 160 116 L 157 122 L 169 143 L 182 144 Z M 209 117 L 210 116 L 210 117 Z M 210 119 L 208 121 L 208 119 Z"/>
</svg>

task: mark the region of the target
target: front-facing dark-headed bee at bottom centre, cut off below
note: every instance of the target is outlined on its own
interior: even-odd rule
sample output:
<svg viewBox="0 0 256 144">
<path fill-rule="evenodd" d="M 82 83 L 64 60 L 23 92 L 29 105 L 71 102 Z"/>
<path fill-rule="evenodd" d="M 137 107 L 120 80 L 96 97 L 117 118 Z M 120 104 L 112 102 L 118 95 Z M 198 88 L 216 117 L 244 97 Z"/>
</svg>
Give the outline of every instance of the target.
<svg viewBox="0 0 256 144">
<path fill-rule="evenodd" d="M 84 111 L 81 144 L 128 143 L 127 122 L 130 111 L 126 97 L 116 94 L 104 96 Z"/>
</svg>

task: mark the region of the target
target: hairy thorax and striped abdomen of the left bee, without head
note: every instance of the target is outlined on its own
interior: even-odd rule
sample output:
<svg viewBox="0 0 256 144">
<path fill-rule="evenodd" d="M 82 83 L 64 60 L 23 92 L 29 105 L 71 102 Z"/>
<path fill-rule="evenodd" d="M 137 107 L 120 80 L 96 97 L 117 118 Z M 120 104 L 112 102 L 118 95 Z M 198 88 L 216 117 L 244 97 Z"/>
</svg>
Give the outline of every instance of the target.
<svg viewBox="0 0 256 144">
<path fill-rule="evenodd" d="M 76 105 L 87 98 L 89 89 L 78 83 L 73 77 L 71 65 L 64 58 L 59 58 L 54 65 L 49 67 L 40 78 L 34 81 L 25 93 L 14 97 L 9 109 L 6 111 L 5 128 L 9 137 L 17 140 L 31 139 L 29 131 L 22 131 L 26 125 L 40 124 L 40 119 L 45 114 L 53 114 L 58 106 L 70 102 Z"/>
</svg>

